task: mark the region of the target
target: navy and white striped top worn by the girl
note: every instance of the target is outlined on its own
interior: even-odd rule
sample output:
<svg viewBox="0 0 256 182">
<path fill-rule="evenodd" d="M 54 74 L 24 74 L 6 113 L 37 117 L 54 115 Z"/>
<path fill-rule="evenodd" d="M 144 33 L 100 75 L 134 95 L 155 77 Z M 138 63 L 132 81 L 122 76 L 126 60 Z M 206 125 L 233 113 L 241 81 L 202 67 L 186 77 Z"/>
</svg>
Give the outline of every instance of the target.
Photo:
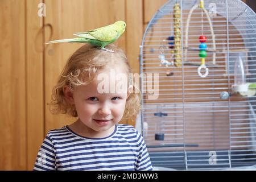
<svg viewBox="0 0 256 182">
<path fill-rule="evenodd" d="M 133 126 L 115 125 L 105 138 L 86 138 L 68 126 L 48 132 L 34 170 L 152 170 L 143 137 Z"/>
</svg>

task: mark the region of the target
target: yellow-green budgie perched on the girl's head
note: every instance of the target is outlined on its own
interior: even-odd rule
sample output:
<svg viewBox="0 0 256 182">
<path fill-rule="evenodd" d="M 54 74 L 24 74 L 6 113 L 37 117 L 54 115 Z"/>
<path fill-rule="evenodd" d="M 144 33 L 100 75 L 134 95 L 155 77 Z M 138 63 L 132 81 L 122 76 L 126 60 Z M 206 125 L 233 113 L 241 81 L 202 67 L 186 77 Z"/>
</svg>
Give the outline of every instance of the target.
<svg viewBox="0 0 256 182">
<path fill-rule="evenodd" d="M 60 43 L 60 42 L 80 42 L 89 43 L 93 46 L 101 47 L 105 51 L 110 51 L 104 48 L 108 44 L 115 42 L 125 31 L 126 23 L 123 21 L 117 21 L 105 27 L 100 27 L 94 30 L 89 30 L 86 32 L 77 32 L 73 35 L 78 36 L 78 38 L 73 39 L 62 39 L 53 40 L 46 44 Z M 113 51 L 110 51 L 113 52 Z"/>
</svg>

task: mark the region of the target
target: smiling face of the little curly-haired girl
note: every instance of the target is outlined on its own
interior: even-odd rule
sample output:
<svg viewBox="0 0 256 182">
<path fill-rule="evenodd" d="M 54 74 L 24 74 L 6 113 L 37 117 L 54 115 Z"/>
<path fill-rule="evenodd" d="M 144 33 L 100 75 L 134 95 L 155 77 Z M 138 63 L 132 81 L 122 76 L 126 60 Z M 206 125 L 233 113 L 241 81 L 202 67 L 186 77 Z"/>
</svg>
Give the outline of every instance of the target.
<svg viewBox="0 0 256 182">
<path fill-rule="evenodd" d="M 125 73 L 122 68 L 117 67 L 113 70 L 116 75 Z M 106 80 L 111 80 L 110 70 L 98 74 L 101 73 L 108 76 Z M 122 119 L 128 95 L 127 92 L 99 93 L 98 85 L 102 81 L 98 80 L 98 74 L 90 84 L 77 86 L 74 89 L 73 104 L 75 104 L 80 122 L 84 124 L 90 136 L 94 134 L 99 136 L 98 133 L 102 133 L 102 136 L 106 137 L 113 132 L 114 125 Z M 111 85 L 110 82 L 109 90 L 110 86 L 117 85 L 117 83 Z"/>
</svg>

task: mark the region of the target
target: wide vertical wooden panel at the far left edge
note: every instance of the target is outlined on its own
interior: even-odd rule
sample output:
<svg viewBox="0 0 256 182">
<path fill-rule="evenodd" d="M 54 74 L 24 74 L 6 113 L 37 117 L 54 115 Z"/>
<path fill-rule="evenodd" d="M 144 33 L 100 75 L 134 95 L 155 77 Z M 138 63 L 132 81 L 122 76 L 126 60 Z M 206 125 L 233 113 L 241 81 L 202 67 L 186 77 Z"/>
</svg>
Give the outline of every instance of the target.
<svg viewBox="0 0 256 182">
<path fill-rule="evenodd" d="M 24 170 L 26 150 L 25 1 L 0 1 L 0 169 Z"/>
</svg>

